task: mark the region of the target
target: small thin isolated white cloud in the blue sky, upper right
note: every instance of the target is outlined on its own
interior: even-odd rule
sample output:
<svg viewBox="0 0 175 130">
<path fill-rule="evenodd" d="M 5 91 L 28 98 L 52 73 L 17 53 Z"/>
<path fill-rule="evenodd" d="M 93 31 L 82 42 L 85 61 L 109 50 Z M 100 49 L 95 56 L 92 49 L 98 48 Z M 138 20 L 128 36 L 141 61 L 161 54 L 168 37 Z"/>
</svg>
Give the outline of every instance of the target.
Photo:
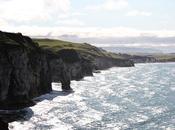
<svg viewBox="0 0 175 130">
<path fill-rule="evenodd" d="M 132 10 L 126 14 L 127 16 L 150 16 L 152 15 L 151 12 L 139 11 L 139 10 Z"/>
</svg>

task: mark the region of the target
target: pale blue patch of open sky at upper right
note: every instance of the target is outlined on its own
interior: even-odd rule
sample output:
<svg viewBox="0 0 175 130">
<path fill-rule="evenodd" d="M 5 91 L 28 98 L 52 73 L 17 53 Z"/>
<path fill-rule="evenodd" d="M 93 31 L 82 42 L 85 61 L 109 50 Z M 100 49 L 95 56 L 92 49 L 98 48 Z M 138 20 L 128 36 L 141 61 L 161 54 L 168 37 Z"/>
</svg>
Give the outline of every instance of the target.
<svg viewBox="0 0 175 130">
<path fill-rule="evenodd" d="M 82 10 L 86 13 L 86 16 L 80 19 L 90 26 L 123 26 L 144 30 L 175 29 L 174 0 L 128 0 L 128 5 L 121 9 L 84 10 L 87 6 L 98 6 L 102 3 L 105 3 L 105 0 L 81 0 L 73 2 L 73 7 L 76 11 Z M 137 13 L 128 16 L 131 12 Z"/>
</svg>

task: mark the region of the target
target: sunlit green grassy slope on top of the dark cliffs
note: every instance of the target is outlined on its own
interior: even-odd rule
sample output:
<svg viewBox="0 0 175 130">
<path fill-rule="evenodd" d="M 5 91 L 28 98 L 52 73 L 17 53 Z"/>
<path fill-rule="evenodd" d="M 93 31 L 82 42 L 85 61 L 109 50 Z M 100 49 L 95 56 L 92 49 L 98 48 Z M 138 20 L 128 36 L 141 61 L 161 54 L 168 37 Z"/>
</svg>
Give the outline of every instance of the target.
<svg viewBox="0 0 175 130">
<path fill-rule="evenodd" d="M 61 49 L 74 49 L 82 56 L 97 56 L 97 57 L 109 57 L 114 59 L 124 59 L 121 55 L 107 52 L 101 48 L 92 46 L 87 43 L 73 43 L 68 41 L 53 40 L 53 39 L 33 39 L 43 49 L 49 49 L 57 53 Z"/>
</svg>

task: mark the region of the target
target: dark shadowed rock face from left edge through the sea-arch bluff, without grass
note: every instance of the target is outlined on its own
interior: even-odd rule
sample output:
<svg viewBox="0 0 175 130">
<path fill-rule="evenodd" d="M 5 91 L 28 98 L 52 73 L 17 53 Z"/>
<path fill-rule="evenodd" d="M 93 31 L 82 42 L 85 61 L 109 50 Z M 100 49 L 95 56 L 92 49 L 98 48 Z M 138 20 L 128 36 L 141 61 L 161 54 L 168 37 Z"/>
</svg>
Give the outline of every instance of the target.
<svg viewBox="0 0 175 130">
<path fill-rule="evenodd" d="M 92 75 L 90 61 L 76 51 L 54 54 L 20 33 L 0 32 L 0 109 L 30 106 L 30 99 L 52 90 L 52 82 L 70 90 L 70 81 L 85 75 Z"/>
</svg>

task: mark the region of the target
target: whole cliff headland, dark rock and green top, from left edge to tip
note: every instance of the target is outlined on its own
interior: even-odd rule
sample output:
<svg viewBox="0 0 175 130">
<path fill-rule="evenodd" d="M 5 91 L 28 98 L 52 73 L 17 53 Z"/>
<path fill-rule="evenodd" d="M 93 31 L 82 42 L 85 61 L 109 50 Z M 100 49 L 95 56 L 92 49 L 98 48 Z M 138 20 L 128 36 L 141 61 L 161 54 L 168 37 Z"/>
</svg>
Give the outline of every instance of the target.
<svg viewBox="0 0 175 130">
<path fill-rule="evenodd" d="M 52 82 L 61 82 L 63 90 L 71 90 L 71 80 L 113 66 L 134 64 L 86 43 L 33 41 L 21 33 L 0 32 L 0 109 L 34 105 L 31 99 L 52 91 Z"/>
</svg>

